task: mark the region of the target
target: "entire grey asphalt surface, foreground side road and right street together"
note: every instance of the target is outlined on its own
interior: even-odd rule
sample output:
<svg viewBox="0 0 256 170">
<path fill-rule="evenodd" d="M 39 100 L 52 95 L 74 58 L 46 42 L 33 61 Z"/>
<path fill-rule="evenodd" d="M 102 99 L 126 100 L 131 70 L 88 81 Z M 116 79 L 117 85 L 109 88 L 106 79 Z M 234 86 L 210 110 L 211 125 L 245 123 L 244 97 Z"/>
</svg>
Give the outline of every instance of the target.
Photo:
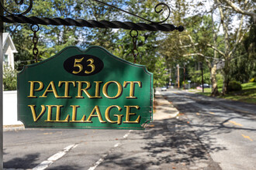
<svg viewBox="0 0 256 170">
<path fill-rule="evenodd" d="M 161 92 L 180 111 L 145 131 L 28 129 L 4 132 L 4 168 L 255 169 L 255 105 Z"/>
</svg>

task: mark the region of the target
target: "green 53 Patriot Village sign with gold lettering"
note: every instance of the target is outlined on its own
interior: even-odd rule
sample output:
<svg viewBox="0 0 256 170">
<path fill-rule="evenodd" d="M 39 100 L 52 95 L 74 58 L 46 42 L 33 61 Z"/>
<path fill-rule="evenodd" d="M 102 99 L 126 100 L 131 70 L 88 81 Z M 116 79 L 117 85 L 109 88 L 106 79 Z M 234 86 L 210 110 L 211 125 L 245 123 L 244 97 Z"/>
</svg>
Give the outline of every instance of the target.
<svg viewBox="0 0 256 170">
<path fill-rule="evenodd" d="M 144 129 L 152 111 L 153 74 L 99 46 L 69 46 L 18 74 L 26 128 Z"/>
</svg>

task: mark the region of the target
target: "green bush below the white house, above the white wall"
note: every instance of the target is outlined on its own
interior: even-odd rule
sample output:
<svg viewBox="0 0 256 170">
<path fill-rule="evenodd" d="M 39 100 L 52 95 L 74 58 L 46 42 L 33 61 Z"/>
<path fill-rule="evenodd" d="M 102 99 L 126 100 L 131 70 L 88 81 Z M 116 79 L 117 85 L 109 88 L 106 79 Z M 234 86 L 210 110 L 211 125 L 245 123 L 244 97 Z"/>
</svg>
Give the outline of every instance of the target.
<svg viewBox="0 0 256 170">
<path fill-rule="evenodd" d="M 5 66 L 3 69 L 3 85 L 4 90 L 16 90 L 17 89 L 17 71 L 12 70 L 11 67 Z"/>
</svg>

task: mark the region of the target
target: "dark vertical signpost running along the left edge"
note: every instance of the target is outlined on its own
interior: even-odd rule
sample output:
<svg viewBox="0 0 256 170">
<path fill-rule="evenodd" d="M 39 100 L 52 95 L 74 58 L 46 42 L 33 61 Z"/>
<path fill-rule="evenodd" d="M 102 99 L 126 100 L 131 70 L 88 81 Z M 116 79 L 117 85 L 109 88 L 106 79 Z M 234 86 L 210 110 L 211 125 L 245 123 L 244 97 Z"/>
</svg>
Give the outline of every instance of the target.
<svg viewBox="0 0 256 170">
<path fill-rule="evenodd" d="M 4 4 L 3 0 L 0 0 Z M 4 9 L 0 6 L 0 15 L 4 15 Z M 3 165 L 3 89 L 2 89 L 2 63 L 3 63 L 3 46 L 2 46 L 2 33 L 4 31 L 4 23 L 0 20 L 0 169 L 4 169 Z"/>
</svg>

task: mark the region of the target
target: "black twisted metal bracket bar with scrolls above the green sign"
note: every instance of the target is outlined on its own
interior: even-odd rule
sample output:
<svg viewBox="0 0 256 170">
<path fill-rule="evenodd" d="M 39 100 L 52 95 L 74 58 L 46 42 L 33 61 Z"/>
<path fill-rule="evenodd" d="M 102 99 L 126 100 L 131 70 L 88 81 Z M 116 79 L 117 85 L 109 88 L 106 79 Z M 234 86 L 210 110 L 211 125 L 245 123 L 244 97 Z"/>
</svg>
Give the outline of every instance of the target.
<svg viewBox="0 0 256 170">
<path fill-rule="evenodd" d="M 99 0 L 93 0 L 95 2 L 99 2 L 102 3 L 104 5 L 108 5 L 111 8 L 116 8 L 115 6 L 106 4 L 105 2 L 100 2 Z M 0 1 L 1 2 L 1 1 Z M 24 3 L 23 0 L 15 0 L 17 5 L 22 5 Z M 84 20 L 84 19 L 61 19 L 61 18 L 54 18 L 54 19 L 49 19 L 49 18 L 38 18 L 35 16 L 31 16 L 31 17 L 26 17 L 25 15 L 31 10 L 31 8 L 33 7 L 33 0 L 29 0 L 29 7 L 26 9 L 25 12 L 22 12 L 20 14 L 14 14 L 12 12 L 9 12 L 4 5 L 2 4 L 2 2 L 0 3 L 0 8 L 3 8 L 5 10 L 5 12 L 9 13 L 9 15 L 7 16 L 2 16 L 0 15 L 0 19 L 2 20 L 2 22 L 8 22 L 8 23 L 29 23 L 29 24 L 40 24 L 40 25 L 52 25 L 52 26 L 79 26 L 79 27 L 89 27 L 89 28 L 104 28 L 104 29 L 129 29 L 129 30 L 147 30 L 147 31 L 163 31 L 163 32 L 171 32 L 174 30 L 178 30 L 179 32 L 182 32 L 184 30 L 183 26 L 174 26 L 171 24 L 162 24 L 163 22 L 165 22 L 171 13 L 170 8 L 168 7 L 168 5 L 164 4 L 164 3 L 159 3 L 155 6 L 154 11 L 157 13 L 160 13 L 163 11 L 163 9 L 161 8 L 161 10 L 157 10 L 157 7 L 160 5 L 165 6 L 166 8 L 168 8 L 168 17 L 166 19 L 164 19 L 164 21 L 161 22 L 152 22 L 148 19 L 144 19 L 142 17 L 140 17 L 139 15 L 135 15 L 133 13 L 130 12 L 126 12 L 123 9 L 120 8 L 116 8 L 119 11 L 122 12 L 126 12 L 130 15 L 136 16 L 140 19 L 144 19 L 147 22 L 150 22 L 149 24 L 147 23 L 134 23 L 134 22 L 119 22 L 119 21 L 95 21 L 95 20 Z"/>
</svg>

